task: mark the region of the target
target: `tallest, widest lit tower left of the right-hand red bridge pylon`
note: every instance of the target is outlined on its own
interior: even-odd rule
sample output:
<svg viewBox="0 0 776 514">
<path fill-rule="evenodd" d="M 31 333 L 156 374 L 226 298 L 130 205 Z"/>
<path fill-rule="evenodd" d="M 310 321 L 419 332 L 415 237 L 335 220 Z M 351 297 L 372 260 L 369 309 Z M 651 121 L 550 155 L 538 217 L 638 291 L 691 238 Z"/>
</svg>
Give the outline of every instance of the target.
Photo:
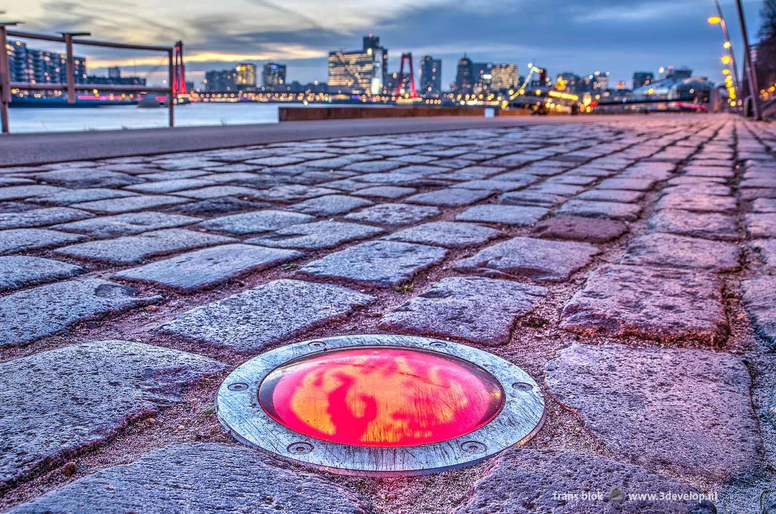
<svg viewBox="0 0 776 514">
<path fill-rule="evenodd" d="M 379 95 L 386 90 L 388 50 L 379 37 L 366 36 L 362 50 L 329 52 L 329 91 L 346 95 Z M 387 92 L 387 91 L 386 91 Z"/>
</svg>

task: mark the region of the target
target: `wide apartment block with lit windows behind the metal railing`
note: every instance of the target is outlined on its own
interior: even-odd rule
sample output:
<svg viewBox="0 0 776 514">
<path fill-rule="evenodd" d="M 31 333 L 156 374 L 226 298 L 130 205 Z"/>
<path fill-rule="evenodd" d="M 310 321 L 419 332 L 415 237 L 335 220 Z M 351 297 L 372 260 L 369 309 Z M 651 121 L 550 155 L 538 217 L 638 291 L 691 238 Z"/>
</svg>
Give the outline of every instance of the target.
<svg viewBox="0 0 776 514">
<path fill-rule="evenodd" d="M 30 84 L 67 84 L 68 67 L 64 53 L 28 48 L 21 41 L 9 41 L 8 52 L 11 81 Z M 75 56 L 73 75 L 76 84 L 86 81 L 86 57 Z"/>
</svg>

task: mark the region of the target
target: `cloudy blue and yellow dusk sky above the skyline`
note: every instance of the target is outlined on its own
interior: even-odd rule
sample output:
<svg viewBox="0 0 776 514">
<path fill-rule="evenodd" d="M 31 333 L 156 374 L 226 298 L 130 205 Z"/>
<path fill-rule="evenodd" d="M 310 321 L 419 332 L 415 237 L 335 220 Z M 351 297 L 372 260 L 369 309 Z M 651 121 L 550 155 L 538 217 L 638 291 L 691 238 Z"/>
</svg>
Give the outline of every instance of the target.
<svg viewBox="0 0 776 514">
<path fill-rule="evenodd" d="M 743 5 L 753 39 L 761 2 Z M 359 48 L 367 33 L 388 47 L 390 71 L 402 52 L 412 52 L 416 66 L 423 54 L 442 58 L 444 85 L 464 52 L 475 61 L 516 63 L 521 73 L 529 62 L 553 77 L 608 70 L 610 84 L 630 84 L 633 71 L 668 64 L 722 81 L 722 33 L 706 22 L 716 14 L 712 0 L 0 0 L 2 10 L 29 31 L 85 30 L 95 39 L 158 45 L 181 39 L 196 82 L 205 70 L 266 60 L 288 64 L 289 81 L 325 81 L 329 50 Z M 740 53 L 733 2 L 723 1 L 722 10 Z M 77 51 L 88 57 L 90 73 L 118 64 L 123 74 L 156 71 L 154 80 L 165 62 L 153 54 Z"/>
</svg>

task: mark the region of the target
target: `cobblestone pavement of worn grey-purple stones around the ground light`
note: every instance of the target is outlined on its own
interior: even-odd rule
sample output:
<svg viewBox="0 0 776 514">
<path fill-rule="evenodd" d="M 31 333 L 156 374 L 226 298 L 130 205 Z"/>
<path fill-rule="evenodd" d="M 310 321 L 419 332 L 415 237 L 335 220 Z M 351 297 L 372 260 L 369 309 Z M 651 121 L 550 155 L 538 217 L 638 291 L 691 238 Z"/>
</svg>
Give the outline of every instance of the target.
<svg viewBox="0 0 776 514">
<path fill-rule="evenodd" d="M 776 488 L 772 125 L 633 116 L 4 167 L 0 256 L 9 512 L 715 512 L 703 493 L 748 513 Z M 416 478 L 296 467 L 223 431 L 234 367 L 351 333 L 489 350 L 542 385 L 546 424 Z"/>
</svg>

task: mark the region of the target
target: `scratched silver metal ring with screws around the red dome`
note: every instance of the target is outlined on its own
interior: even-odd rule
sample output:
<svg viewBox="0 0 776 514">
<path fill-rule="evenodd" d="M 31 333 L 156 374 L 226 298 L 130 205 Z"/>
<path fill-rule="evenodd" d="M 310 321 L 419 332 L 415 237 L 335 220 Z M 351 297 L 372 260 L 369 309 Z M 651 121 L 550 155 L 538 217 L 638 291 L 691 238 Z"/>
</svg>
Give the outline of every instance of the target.
<svg viewBox="0 0 776 514">
<path fill-rule="evenodd" d="M 276 422 L 259 405 L 262 381 L 289 360 L 326 350 L 380 346 L 431 350 L 476 364 L 501 384 L 501 410 L 485 426 L 454 439 L 410 447 L 365 447 L 304 436 Z M 242 443 L 299 464 L 369 476 L 426 474 L 476 464 L 525 443 L 545 419 L 539 385 L 520 367 L 483 350 L 417 336 L 334 336 L 270 350 L 237 367 L 223 381 L 216 405 L 221 424 Z"/>
</svg>

